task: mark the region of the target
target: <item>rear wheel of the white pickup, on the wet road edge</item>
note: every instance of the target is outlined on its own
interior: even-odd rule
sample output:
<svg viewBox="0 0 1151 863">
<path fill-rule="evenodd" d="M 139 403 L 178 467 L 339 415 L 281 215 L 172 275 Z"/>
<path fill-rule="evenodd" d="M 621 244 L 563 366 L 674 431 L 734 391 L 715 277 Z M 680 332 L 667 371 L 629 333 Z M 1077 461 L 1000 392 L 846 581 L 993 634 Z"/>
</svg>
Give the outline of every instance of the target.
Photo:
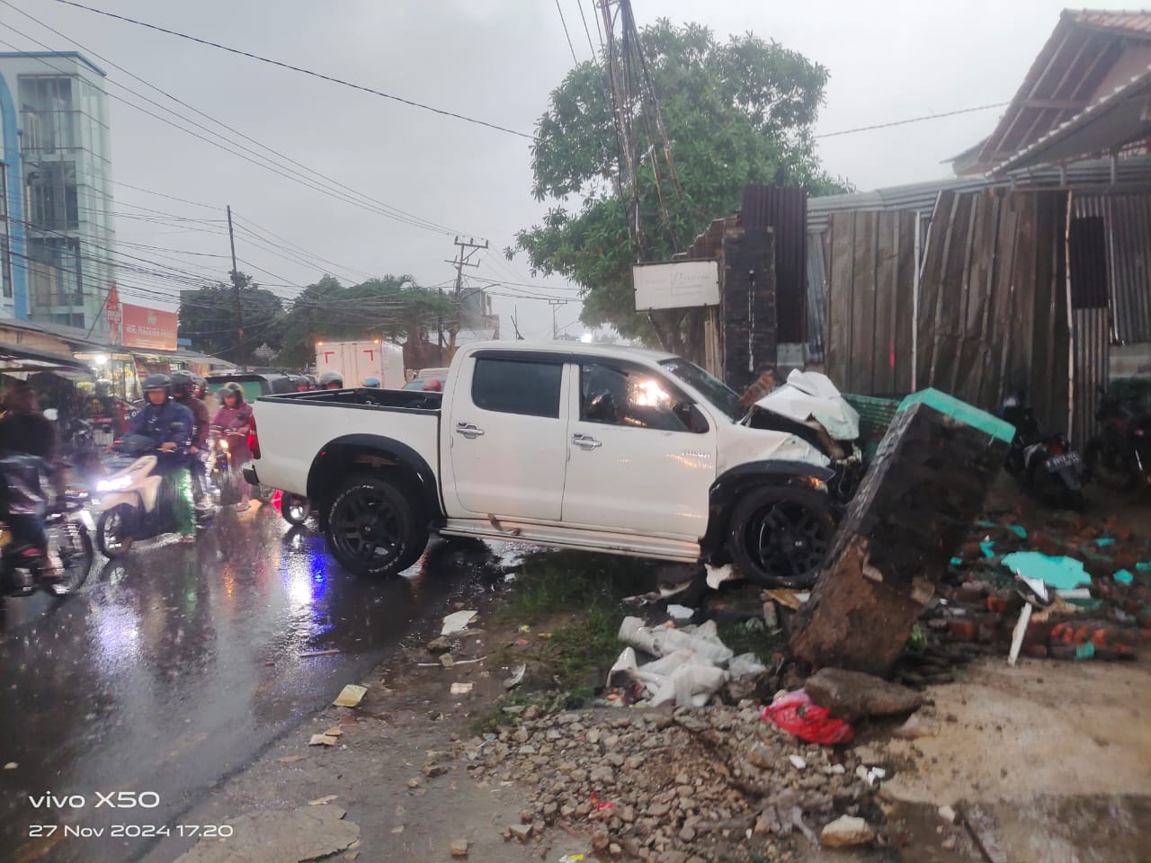
<svg viewBox="0 0 1151 863">
<path fill-rule="evenodd" d="M 360 575 L 392 576 L 411 566 L 428 534 L 404 489 L 381 476 L 349 479 L 328 507 L 325 535 L 341 566 Z"/>
</svg>

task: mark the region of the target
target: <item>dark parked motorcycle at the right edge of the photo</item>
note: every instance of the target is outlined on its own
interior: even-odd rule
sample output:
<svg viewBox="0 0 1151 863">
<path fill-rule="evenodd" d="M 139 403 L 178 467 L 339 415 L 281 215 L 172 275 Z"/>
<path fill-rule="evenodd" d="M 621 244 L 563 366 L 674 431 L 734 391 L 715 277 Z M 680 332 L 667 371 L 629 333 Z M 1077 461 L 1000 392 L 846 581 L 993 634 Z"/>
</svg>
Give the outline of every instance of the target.
<svg viewBox="0 0 1151 863">
<path fill-rule="evenodd" d="M 1100 434 L 1087 445 L 1088 475 L 1123 491 L 1151 486 L 1151 414 L 1134 398 L 1098 391 Z"/>
</svg>

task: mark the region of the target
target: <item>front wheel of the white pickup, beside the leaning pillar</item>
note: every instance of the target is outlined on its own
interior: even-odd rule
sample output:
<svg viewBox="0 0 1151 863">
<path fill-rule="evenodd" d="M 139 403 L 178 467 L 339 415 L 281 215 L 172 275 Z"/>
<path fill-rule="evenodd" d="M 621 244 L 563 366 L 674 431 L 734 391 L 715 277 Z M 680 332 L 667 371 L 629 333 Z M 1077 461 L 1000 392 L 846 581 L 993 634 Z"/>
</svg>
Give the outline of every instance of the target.
<svg viewBox="0 0 1151 863">
<path fill-rule="evenodd" d="M 836 533 L 826 494 L 795 486 L 763 486 L 732 511 L 727 549 L 745 578 L 769 588 L 815 583 Z"/>
</svg>

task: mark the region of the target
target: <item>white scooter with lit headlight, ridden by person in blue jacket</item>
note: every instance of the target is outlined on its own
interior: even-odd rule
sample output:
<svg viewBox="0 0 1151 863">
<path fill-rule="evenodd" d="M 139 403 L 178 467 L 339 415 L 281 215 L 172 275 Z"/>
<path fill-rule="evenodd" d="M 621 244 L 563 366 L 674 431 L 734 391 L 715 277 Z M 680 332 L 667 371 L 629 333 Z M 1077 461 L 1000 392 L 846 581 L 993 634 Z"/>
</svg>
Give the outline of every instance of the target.
<svg viewBox="0 0 1151 863">
<path fill-rule="evenodd" d="M 121 458 L 112 464 L 114 472 L 96 483 L 104 506 L 96 522 L 96 542 L 109 558 L 127 555 L 137 540 L 180 529 L 175 502 L 165 494 L 163 476 L 154 474 L 160 451 L 152 440 L 128 435 L 114 445 Z M 128 464 L 121 467 L 125 459 Z M 204 527 L 204 521 L 197 519 L 197 532 Z"/>
</svg>

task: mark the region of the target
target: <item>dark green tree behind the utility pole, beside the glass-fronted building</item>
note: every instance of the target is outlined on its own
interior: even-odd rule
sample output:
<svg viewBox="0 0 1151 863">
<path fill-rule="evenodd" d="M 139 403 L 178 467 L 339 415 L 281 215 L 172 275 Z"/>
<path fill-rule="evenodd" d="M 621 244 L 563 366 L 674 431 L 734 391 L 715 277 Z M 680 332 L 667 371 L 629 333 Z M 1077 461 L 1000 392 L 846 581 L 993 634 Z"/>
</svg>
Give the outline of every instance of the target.
<svg viewBox="0 0 1151 863">
<path fill-rule="evenodd" d="M 201 353 L 241 365 L 266 344 L 276 351 L 283 339 L 283 300 L 239 274 L 244 312 L 244 344 L 237 336 L 236 293 L 230 284 L 214 284 L 180 293 L 180 335 Z"/>
</svg>

